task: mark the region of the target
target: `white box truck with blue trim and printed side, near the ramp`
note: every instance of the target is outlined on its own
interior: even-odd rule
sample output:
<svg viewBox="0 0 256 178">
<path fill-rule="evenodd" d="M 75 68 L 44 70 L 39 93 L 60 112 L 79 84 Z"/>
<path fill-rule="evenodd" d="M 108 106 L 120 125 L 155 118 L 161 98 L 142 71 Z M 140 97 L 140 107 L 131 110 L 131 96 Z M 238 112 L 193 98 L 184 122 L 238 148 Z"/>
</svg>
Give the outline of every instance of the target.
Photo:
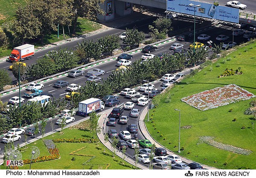
<svg viewBox="0 0 256 178">
<path fill-rule="evenodd" d="M 89 98 L 78 103 L 78 114 L 82 116 L 88 115 L 90 112 L 102 111 L 105 104 L 99 98 Z"/>
</svg>

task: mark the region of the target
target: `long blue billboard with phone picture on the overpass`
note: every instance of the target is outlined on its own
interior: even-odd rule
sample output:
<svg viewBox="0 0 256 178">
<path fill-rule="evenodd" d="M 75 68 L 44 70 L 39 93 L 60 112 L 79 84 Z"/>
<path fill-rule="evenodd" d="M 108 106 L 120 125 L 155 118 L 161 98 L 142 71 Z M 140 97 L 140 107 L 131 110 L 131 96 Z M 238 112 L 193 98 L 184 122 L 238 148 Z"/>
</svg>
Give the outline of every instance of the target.
<svg viewBox="0 0 256 178">
<path fill-rule="evenodd" d="M 194 8 L 194 6 L 189 6 L 190 3 L 201 6 Z M 218 1 L 213 0 L 212 4 L 192 0 L 167 0 L 166 10 L 189 15 L 195 13 L 198 17 L 239 23 L 239 9 L 219 6 Z"/>
</svg>

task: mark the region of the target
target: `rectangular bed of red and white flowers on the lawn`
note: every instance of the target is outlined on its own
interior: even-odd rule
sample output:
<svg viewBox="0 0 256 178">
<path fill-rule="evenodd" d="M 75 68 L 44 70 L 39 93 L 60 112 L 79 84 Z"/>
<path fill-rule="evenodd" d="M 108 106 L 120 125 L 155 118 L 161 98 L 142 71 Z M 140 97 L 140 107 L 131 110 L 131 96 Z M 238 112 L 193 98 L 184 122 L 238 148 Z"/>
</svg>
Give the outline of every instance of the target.
<svg viewBox="0 0 256 178">
<path fill-rule="evenodd" d="M 236 103 L 241 100 L 249 100 L 254 97 L 255 95 L 247 90 L 235 84 L 230 84 L 182 98 L 181 101 L 196 109 L 205 111 L 207 109 L 217 108 L 218 106 Z"/>
</svg>

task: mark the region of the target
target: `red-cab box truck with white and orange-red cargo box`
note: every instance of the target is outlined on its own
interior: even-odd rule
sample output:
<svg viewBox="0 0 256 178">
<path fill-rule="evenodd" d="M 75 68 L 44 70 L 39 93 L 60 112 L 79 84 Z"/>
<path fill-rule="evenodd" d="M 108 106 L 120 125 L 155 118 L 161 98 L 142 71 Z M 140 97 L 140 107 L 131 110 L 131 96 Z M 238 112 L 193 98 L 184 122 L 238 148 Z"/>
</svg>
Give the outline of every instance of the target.
<svg viewBox="0 0 256 178">
<path fill-rule="evenodd" d="M 10 56 L 10 61 L 19 61 L 19 60 L 28 60 L 30 57 L 34 56 L 35 54 L 35 47 L 31 44 L 24 44 L 18 47 L 15 47 Z"/>
</svg>

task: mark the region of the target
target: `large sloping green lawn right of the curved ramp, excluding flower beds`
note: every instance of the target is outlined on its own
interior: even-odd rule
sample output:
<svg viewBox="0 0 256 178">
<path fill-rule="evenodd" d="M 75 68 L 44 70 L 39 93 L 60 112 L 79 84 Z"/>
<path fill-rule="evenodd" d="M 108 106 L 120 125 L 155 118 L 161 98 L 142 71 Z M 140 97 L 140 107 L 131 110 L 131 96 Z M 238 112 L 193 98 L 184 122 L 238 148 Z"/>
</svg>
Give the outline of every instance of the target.
<svg viewBox="0 0 256 178">
<path fill-rule="evenodd" d="M 206 111 L 195 109 L 180 100 L 183 97 L 228 84 L 236 84 L 256 95 L 255 53 L 256 43 L 245 46 L 225 59 L 213 63 L 212 71 L 210 71 L 211 66 L 207 66 L 194 77 L 182 80 L 164 94 L 159 106 L 150 110 L 150 117 L 153 117 L 154 123 L 145 122 L 153 138 L 168 149 L 177 152 L 178 148 L 175 148 L 175 145 L 178 146 L 179 112 L 174 109 L 180 109 L 181 126 L 192 126 L 191 129 L 180 130 L 180 147 L 184 146 L 185 148 L 180 155 L 221 169 L 256 169 L 256 129 L 252 129 L 251 124 L 252 121 L 255 121 L 252 115 L 244 115 L 244 111 L 250 107 L 249 103 L 253 99 Z M 216 67 L 217 63 L 220 64 L 220 67 Z M 218 75 L 221 75 L 226 68 L 235 70 L 238 67 L 241 67 L 243 75 L 218 78 Z M 166 103 L 168 95 L 170 95 L 171 101 Z M 229 112 L 230 108 L 233 108 L 233 112 Z M 155 111 L 153 112 L 153 110 Z M 152 113 L 154 115 L 151 116 Z M 232 121 L 234 118 L 237 118 L 236 122 Z M 145 118 L 146 120 L 147 118 Z M 154 124 L 155 126 L 153 126 Z M 241 129 L 242 126 L 246 126 L 246 129 Z M 163 137 L 160 137 L 161 134 Z M 215 141 L 249 149 L 253 153 L 239 155 L 208 144 L 198 144 L 200 136 L 213 136 Z M 169 144 L 170 142 L 171 144 Z M 188 154 L 189 151 L 190 154 Z M 224 166 L 225 161 L 227 161 L 226 166 Z"/>
</svg>

